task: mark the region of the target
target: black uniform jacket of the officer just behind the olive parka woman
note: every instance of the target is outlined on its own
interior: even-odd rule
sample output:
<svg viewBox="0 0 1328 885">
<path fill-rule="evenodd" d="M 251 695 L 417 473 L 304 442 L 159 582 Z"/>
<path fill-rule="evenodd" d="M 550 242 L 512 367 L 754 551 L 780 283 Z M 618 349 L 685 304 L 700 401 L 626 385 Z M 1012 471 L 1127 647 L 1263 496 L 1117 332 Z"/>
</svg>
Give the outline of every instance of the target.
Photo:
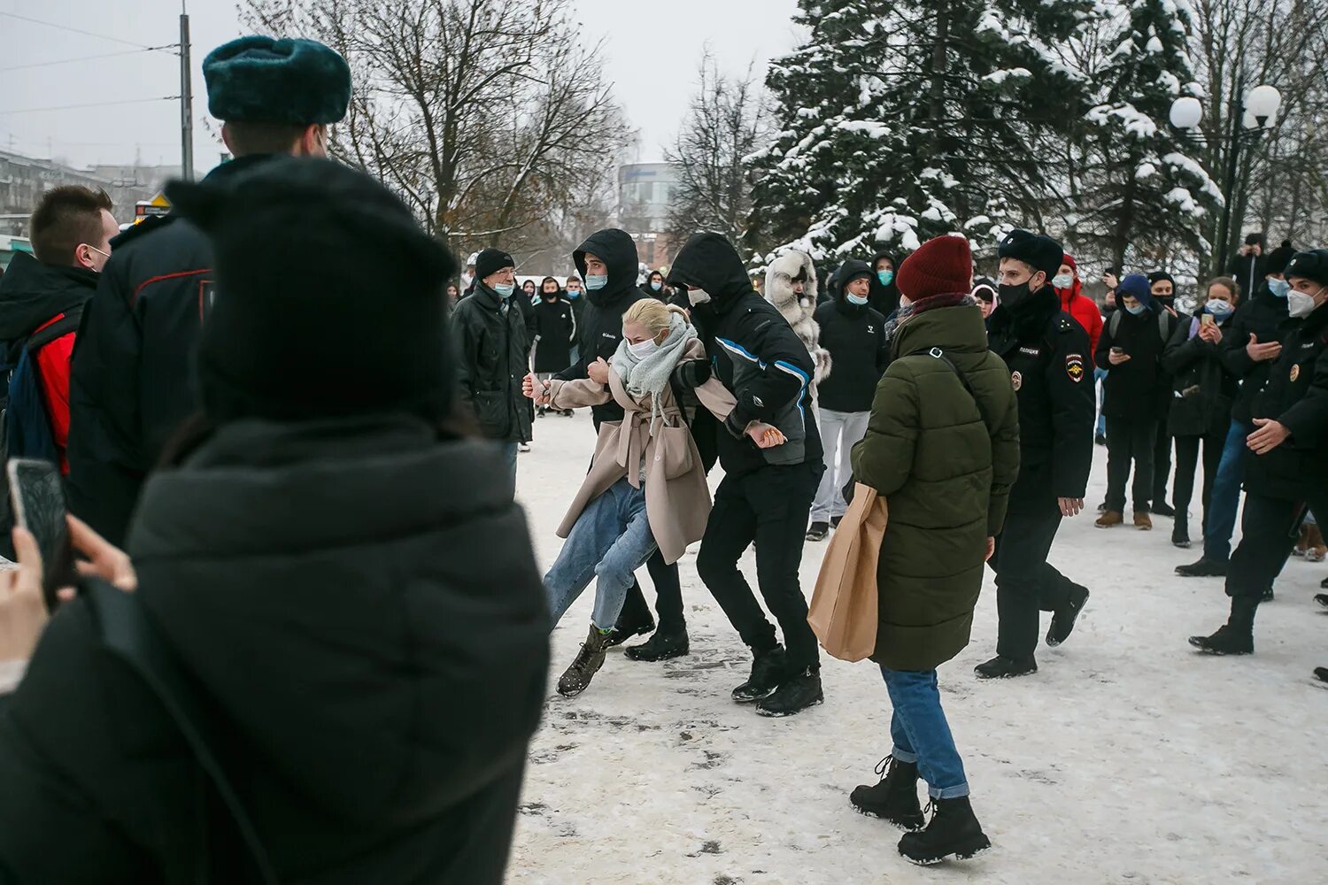
<svg viewBox="0 0 1328 885">
<path fill-rule="evenodd" d="M 1011 511 L 1045 511 L 1084 498 L 1093 464 L 1093 362 L 1088 332 L 1046 285 L 1016 309 L 1000 305 L 988 344 L 1009 368 L 1019 397 L 1019 480 Z"/>
</svg>

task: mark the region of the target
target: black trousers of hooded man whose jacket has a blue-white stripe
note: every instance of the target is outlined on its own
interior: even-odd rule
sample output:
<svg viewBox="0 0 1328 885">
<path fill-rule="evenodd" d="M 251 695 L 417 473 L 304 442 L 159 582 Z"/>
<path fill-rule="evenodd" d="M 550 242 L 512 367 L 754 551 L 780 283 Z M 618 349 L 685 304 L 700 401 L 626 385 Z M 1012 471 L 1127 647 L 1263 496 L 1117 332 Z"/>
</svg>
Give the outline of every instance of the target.
<svg viewBox="0 0 1328 885">
<path fill-rule="evenodd" d="M 823 472 L 818 459 L 725 476 L 714 492 L 714 510 L 696 557 L 696 571 L 729 624 L 749 647 L 766 651 L 777 644 L 774 626 L 738 569 L 738 559 L 756 543 L 757 584 L 784 632 L 789 665 L 797 670 L 818 669 L 821 662 L 817 637 L 807 625 L 798 568 L 811 500 Z"/>
</svg>

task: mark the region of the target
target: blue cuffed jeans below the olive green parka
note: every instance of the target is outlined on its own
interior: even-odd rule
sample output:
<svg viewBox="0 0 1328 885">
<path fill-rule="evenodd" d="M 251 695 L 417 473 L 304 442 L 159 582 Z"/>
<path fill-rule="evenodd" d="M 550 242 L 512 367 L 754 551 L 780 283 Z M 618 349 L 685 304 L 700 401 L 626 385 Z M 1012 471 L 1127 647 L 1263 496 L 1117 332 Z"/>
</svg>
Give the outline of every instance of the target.
<svg viewBox="0 0 1328 885">
<path fill-rule="evenodd" d="M 940 689 L 935 670 L 891 670 L 880 667 L 890 693 L 891 755 L 898 762 L 918 764 L 932 799 L 959 799 L 968 795 L 964 763 L 950 734 L 946 711 L 940 709 Z"/>
</svg>

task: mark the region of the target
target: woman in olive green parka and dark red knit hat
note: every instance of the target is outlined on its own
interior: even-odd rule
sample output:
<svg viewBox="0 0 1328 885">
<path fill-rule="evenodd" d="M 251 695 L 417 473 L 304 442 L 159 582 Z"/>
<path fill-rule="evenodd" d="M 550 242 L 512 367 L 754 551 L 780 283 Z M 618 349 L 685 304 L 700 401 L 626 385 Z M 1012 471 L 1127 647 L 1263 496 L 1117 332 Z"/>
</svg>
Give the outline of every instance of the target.
<svg viewBox="0 0 1328 885">
<path fill-rule="evenodd" d="M 936 813 L 924 831 L 906 835 L 899 851 L 936 862 L 991 847 L 968 803 L 936 667 L 968 645 L 983 564 L 1019 476 L 1019 405 L 968 296 L 968 241 L 924 243 L 896 280 L 906 306 L 895 328 L 887 326 L 892 361 L 876 387 L 867 435 L 853 451 L 854 479 L 875 488 L 890 508 L 876 571 L 872 661 L 894 707 L 894 751 L 882 782 L 855 789 L 853 803 L 920 829 L 920 774 Z"/>
</svg>

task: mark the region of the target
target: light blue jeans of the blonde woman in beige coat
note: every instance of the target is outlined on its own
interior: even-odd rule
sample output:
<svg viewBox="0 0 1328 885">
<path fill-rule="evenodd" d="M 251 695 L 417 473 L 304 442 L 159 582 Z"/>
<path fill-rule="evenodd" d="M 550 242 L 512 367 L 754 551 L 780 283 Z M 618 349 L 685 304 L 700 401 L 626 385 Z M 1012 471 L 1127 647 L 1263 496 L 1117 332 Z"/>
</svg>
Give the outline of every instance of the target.
<svg viewBox="0 0 1328 885">
<path fill-rule="evenodd" d="M 591 624 L 600 630 L 612 629 L 635 580 L 632 573 L 653 552 L 645 491 L 632 488 L 623 478 L 586 506 L 544 576 L 551 624 L 558 625 L 594 577 L 598 581 Z"/>
</svg>

